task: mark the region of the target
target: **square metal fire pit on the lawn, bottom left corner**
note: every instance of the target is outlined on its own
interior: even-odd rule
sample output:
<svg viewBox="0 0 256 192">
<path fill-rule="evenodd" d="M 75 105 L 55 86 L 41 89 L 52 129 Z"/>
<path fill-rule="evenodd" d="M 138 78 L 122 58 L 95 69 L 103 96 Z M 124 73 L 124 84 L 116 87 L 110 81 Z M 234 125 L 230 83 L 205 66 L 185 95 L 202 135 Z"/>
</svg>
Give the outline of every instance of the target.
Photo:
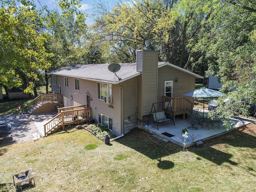
<svg viewBox="0 0 256 192">
<path fill-rule="evenodd" d="M 22 188 L 35 186 L 34 177 L 30 170 L 13 175 L 13 182 L 16 191 L 20 191 Z"/>
</svg>

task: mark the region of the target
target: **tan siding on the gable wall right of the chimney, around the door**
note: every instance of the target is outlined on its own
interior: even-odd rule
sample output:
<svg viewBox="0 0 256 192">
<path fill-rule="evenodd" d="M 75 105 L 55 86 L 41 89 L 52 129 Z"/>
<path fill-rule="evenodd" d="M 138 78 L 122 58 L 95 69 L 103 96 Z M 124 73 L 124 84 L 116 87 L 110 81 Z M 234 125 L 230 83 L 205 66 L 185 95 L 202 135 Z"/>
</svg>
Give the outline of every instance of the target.
<svg viewBox="0 0 256 192">
<path fill-rule="evenodd" d="M 164 81 L 173 81 L 172 97 L 179 98 L 184 97 L 183 94 L 194 91 L 195 77 L 186 74 L 180 70 L 174 69 L 170 66 L 163 66 L 158 68 L 158 101 L 163 102 L 164 96 Z M 178 82 L 175 82 L 178 78 Z M 187 97 L 188 100 L 193 102 L 192 97 Z"/>
</svg>

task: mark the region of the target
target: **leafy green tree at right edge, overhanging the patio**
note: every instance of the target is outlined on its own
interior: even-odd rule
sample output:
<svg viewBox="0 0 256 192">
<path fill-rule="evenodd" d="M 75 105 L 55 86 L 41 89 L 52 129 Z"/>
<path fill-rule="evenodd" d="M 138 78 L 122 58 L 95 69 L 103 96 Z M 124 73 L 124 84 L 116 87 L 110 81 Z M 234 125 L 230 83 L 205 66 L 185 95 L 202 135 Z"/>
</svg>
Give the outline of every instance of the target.
<svg viewBox="0 0 256 192">
<path fill-rule="evenodd" d="M 256 105 L 256 3 L 223 1 L 200 34 L 197 48 L 205 53 L 208 75 L 216 75 L 228 90 L 216 113 L 220 118 L 248 115 Z M 213 115 L 216 113 L 213 112 Z M 227 123 L 227 125 L 230 125 Z"/>
</svg>

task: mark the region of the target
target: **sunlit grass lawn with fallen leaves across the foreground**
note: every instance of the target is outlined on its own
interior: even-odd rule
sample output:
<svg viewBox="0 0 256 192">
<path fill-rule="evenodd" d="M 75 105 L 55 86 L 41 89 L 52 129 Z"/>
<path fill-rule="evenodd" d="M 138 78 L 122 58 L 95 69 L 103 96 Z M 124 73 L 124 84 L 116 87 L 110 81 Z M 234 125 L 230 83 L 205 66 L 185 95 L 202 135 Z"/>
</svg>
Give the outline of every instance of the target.
<svg viewBox="0 0 256 192">
<path fill-rule="evenodd" d="M 105 145 L 86 130 L 0 148 L 0 191 L 15 192 L 12 175 L 31 170 L 36 187 L 68 192 L 256 191 L 254 123 L 204 142 L 166 143 L 135 129 Z"/>
</svg>

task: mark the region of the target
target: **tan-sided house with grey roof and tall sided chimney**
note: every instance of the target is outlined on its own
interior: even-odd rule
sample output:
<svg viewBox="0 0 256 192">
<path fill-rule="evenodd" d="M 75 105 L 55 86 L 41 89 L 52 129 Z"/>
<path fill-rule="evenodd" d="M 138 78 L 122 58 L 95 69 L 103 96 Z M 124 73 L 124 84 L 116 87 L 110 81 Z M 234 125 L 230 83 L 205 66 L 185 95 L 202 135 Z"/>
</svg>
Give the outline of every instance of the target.
<svg viewBox="0 0 256 192">
<path fill-rule="evenodd" d="M 138 50 L 136 63 L 121 63 L 113 72 L 109 64 L 68 66 L 48 72 L 52 92 L 63 96 L 64 107 L 86 105 L 95 122 L 116 136 L 136 127 L 150 115 L 152 104 L 163 97 L 184 97 L 202 76 L 168 62 L 158 62 L 158 52 Z M 193 101 L 193 98 L 187 98 Z"/>
</svg>

